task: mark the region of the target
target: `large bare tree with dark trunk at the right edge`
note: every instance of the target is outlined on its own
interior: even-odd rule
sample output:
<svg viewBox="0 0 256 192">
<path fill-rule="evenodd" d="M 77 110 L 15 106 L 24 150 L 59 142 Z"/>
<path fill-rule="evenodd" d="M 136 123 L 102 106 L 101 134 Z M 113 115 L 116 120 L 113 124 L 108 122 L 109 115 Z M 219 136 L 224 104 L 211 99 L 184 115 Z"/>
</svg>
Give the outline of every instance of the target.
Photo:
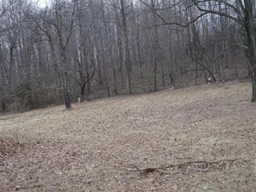
<svg viewBox="0 0 256 192">
<path fill-rule="evenodd" d="M 255 45 L 255 12 L 253 11 L 252 0 L 236 0 L 236 1 L 210 1 L 209 3 L 216 3 L 219 5 L 219 10 L 212 10 L 211 8 L 206 8 L 204 6 L 205 1 L 193 0 L 195 6 L 201 12 L 211 13 L 220 15 L 221 17 L 228 18 L 239 24 L 244 31 L 244 50 L 246 52 L 246 57 L 249 61 L 248 70 L 252 77 L 252 102 L 256 102 L 256 45 Z M 232 10 L 232 13 L 228 14 L 221 9 L 225 6 Z"/>
</svg>

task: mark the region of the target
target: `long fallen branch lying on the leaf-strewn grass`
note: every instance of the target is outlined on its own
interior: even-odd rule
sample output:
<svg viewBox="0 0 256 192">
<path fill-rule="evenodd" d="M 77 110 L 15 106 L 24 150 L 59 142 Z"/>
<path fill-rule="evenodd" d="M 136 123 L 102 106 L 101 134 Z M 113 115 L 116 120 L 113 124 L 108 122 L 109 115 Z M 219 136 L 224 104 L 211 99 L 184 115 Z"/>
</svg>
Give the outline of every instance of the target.
<svg viewBox="0 0 256 192">
<path fill-rule="evenodd" d="M 143 169 L 139 169 L 138 167 L 134 166 L 134 168 L 132 170 L 127 170 L 128 172 L 144 172 L 144 173 L 152 173 L 155 172 L 156 170 L 164 170 L 167 168 L 173 168 L 173 167 L 179 167 L 179 166 L 186 166 L 189 164 L 205 164 L 205 168 L 207 168 L 209 165 L 211 164 L 218 164 L 221 163 L 223 161 L 227 161 L 227 162 L 235 162 L 235 161 L 243 161 L 244 163 L 247 162 L 247 160 L 244 160 L 243 158 L 240 159 L 221 159 L 219 161 L 189 161 L 186 163 L 180 163 L 180 164 L 164 164 L 163 166 L 160 167 L 154 167 L 154 168 L 143 168 Z"/>
</svg>

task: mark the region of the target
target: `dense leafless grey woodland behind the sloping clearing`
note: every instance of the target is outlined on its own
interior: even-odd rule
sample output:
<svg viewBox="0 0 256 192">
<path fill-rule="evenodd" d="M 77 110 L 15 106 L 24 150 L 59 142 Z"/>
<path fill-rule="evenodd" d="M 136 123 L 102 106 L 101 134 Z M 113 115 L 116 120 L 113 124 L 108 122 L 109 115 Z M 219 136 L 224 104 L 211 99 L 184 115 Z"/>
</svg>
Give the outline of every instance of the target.
<svg viewBox="0 0 256 192">
<path fill-rule="evenodd" d="M 0 111 L 250 77 L 254 0 L 2 0 Z"/>
</svg>

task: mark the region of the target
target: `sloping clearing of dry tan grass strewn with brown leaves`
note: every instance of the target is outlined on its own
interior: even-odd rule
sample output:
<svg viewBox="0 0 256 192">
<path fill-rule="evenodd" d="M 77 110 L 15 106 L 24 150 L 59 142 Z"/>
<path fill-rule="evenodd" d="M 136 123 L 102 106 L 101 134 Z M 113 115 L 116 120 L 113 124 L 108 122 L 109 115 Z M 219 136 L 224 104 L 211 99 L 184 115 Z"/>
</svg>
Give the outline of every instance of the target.
<svg viewBox="0 0 256 192">
<path fill-rule="evenodd" d="M 0 116 L 0 191 L 256 191 L 250 97 L 230 82 Z"/>
</svg>

